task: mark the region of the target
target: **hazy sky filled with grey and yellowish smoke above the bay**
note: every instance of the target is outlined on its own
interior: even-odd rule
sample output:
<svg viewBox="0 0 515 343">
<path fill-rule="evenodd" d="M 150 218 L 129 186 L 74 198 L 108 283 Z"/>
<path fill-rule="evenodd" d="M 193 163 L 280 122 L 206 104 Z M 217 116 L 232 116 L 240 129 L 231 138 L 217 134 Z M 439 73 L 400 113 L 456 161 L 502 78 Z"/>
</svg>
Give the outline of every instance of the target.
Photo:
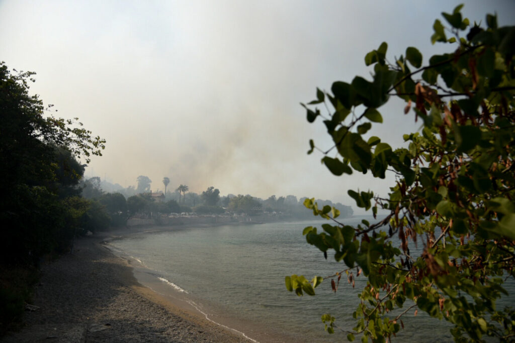
<svg viewBox="0 0 515 343">
<path fill-rule="evenodd" d="M 370 78 L 365 54 L 418 47 L 434 53 L 435 19 L 454 1 L 0 1 L 0 60 L 32 70 L 31 91 L 64 118 L 107 140 L 86 175 L 122 186 L 152 179 L 152 190 L 209 186 L 221 194 L 328 198 L 352 204 L 347 189 L 385 194 L 368 175 L 332 176 L 308 140 L 330 140 L 307 123 L 300 102 L 316 87 Z M 515 2 L 470 1 L 471 22 L 497 12 L 513 25 Z M 431 54 L 431 55 L 430 55 Z M 381 107 L 371 135 L 392 146 L 418 130 L 403 104 Z M 325 109 L 321 108 L 322 112 Z M 387 180 L 392 180 L 389 176 Z"/>
</svg>

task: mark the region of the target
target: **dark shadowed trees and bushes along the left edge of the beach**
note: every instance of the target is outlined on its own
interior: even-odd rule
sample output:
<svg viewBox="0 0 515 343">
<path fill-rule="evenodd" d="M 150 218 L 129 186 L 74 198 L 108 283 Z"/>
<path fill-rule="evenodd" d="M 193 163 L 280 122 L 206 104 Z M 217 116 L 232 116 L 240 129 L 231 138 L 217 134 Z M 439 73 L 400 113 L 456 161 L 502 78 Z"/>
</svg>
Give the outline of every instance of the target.
<svg viewBox="0 0 515 343">
<path fill-rule="evenodd" d="M 102 206 L 78 186 L 79 159 L 101 155 L 105 140 L 29 95 L 33 74 L 0 63 L 0 335 L 20 322 L 42 256 L 70 251 L 77 234 L 106 225 Z"/>
</svg>

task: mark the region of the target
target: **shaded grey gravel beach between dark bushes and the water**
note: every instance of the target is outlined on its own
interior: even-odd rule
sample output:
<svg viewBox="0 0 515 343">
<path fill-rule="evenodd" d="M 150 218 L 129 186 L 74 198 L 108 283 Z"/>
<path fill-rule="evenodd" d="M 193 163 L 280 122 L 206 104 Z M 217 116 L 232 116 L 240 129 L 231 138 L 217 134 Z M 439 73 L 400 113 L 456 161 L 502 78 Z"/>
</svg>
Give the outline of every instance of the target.
<svg viewBox="0 0 515 343">
<path fill-rule="evenodd" d="M 156 301 L 101 240 L 80 239 L 73 254 L 42 267 L 33 303 L 39 309 L 27 312 L 26 327 L 3 342 L 248 341 Z"/>
</svg>

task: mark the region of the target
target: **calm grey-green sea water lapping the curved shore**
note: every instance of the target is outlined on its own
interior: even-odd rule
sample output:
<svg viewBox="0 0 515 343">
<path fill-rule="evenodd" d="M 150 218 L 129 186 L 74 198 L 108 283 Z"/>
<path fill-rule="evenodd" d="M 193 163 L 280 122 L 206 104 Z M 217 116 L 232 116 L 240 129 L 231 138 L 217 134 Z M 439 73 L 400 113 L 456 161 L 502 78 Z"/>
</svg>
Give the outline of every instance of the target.
<svg viewBox="0 0 515 343">
<path fill-rule="evenodd" d="M 369 216 L 345 220 L 356 225 Z M 113 248 L 144 266 L 140 282 L 160 292 L 182 297 L 209 319 L 225 324 L 258 341 L 341 341 L 344 334 L 329 335 L 320 316 L 330 313 L 336 324 L 352 329 L 352 313 L 359 302 L 364 278 L 352 288 L 342 277 L 338 292 L 325 280 L 317 296 L 298 297 L 286 290 L 284 277 L 298 274 L 311 279 L 345 269 L 331 255 L 307 244 L 306 226 L 320 229 L 323 222 L 228 225 L 170 229 L 143 233 L 111 242 Z M 146 277 L 142 277 L 146 275 Z M 152 283 L 153 282 L 153 283 Z M 403 321 L 406 330 L 398 341 L 452 341 L 445 321 L 411 310 Z"/>
</svg>

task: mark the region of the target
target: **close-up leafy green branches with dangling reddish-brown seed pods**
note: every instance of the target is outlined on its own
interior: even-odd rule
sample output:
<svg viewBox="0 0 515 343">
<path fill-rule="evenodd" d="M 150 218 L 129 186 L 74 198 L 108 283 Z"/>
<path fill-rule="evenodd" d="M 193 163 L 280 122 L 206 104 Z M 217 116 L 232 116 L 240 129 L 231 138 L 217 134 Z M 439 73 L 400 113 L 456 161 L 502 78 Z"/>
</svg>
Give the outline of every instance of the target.
<svg viewBox="0 0 515 343">
<path fill-rule="evenodd" d="M 331 93 L 317 89 L 317 99 L 304 105 L 310 122 L 325 117 L 312 105 L 329 102 L 334 109 L 323 121 L 334 146 L 320 150 L 311 140 L 309 152 L 320 150 L 333 174 L 395 175 L 387 197 L 348 191 L 374 216 L 388 211 L 375 224 L 350 227 L 337 219 L 337 209 L 305 201 L 334 223 L 303 232 L 325 256 L 333 249 L 347 265 L 333 276 L 333 289 L 341 275 L 352 284 L 359 274 L 367 278 L 355 327 L 340 327 L 349 340 L 392 338 L 413 308 L 451 322 L 457 341 L 515 337 L 514 310 L 496 306 L 503 283 L 515 277 L 515 27 L 498 27 L 490 14 L 486 28 L 471 25 L 460 9 L 442 13 L 447 27 L 439 20 L 433 26 L 432 43 L 449 44 L 451 52 L 423 66 L 419 50 L 408 47 L 390 63 L 382 43 L 365 57 L 372 81 L 334 82 Z M 404 113 L 422 124 L 403 136 L 406 148 L 365 138 L 383 121 L 378 109 L 391 97 L 403 99 Z M 322 280 L 293 275 L 286 287 L 314 295 Z M 338 328 L 331 314 L 322 320 L 329 332 Z"/>
</svg>

